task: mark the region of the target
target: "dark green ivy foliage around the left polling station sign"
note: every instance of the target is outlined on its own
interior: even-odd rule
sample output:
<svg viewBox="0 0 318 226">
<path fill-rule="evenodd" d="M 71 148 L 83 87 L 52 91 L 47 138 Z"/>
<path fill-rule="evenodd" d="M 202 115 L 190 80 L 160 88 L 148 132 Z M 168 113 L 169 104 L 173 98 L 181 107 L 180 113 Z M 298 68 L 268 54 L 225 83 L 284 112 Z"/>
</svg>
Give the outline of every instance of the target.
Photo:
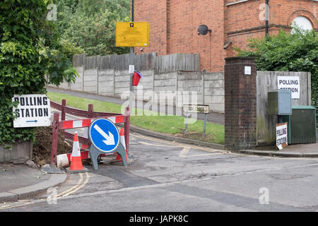
<svg viewBox="0 0 318 226">
<path fill-rule="evenodd" d="M 0 1 L 0 145 L 34 139 L 13 128 L 13 95 L 45 93 L 45 85 L 75 81 L 76 70 L 56 23 L 46 20 L 49 0 Z M 47 76 L 45 76 L 47 75 Z M 47 79 L 46 79 L 47 77 Z"/>
</svg>

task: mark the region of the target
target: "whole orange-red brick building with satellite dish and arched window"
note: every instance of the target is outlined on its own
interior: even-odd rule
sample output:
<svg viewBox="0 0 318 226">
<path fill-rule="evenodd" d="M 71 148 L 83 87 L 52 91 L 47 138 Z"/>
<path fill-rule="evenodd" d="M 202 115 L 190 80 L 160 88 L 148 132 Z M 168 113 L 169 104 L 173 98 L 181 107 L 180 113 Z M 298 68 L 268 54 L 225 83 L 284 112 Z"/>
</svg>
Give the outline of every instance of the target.
<svg viewBox="0 0 318 226">
<path fill-rule="evenodd" d="M 290 32 L 295 21 L 318 30 L 318 0 L 134 0 L 134 21 L 149 22 L 149 47 L 136 54 L 157 52 L 200 54 L 200 68 L 223 71 L 225 57 L 235 56 L 233 47 L 244 48 L 250 37 L 264 37 L 283 29 Z M 207 35 L 198 35 L 207 25 Z"/>
</svg>

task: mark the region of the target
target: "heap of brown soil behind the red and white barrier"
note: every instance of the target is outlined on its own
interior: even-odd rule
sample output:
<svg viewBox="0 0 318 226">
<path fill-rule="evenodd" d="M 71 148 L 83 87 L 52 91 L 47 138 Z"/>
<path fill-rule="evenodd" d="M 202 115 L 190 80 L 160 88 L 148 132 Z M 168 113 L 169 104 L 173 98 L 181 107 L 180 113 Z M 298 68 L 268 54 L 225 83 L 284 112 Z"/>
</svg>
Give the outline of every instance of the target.
<svg viewBox="0 0 318 226">
<path fill-rule="evenodd" d="M 51 162 L 52 126 L 37 127 L 35 129 L 35 143 L 33 144 L 33 162 L 36 165 L 45 165 Z M 59 131 L 57 155 L 71 153 L 73 142 L 65 139 L 63 132 Z"/>
</svg>

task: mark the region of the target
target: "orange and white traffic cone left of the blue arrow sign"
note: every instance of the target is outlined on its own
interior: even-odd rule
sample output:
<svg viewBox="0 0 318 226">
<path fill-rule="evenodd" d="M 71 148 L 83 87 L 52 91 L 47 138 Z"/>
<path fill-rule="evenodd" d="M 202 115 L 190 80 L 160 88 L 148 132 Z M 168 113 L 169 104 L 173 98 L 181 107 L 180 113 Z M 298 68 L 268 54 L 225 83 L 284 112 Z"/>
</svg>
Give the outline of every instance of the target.
<svg viewBox="0 0 318 226">
<path fill-rule="evenodd" d="M 68 172 L 86 172 L 88 169 L 83 167 L 80 146 L 78 143 L 77 131 L 74 134 L 73 150 L 71 155 L 71 166 L 66 168 Z"/>
</svg>

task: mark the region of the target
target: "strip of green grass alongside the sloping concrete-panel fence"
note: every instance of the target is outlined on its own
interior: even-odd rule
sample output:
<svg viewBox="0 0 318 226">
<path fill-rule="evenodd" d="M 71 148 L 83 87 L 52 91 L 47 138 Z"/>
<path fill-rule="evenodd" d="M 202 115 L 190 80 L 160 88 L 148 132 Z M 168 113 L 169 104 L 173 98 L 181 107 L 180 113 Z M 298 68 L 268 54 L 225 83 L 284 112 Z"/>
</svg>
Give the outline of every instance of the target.
<svg viewBox="0 0 318 226">
<path fill-rule="evenodd" d="M 96 112 L 121 113 L 122 106 L 110 102 L 102 102 L 72 95 L 48 92 L 47 96 L 54 102 L 66 100 L 66 105 L 78 109 L 88 109 L 88 104 L 94 105 Z M 146 115 L 145 115 L 146 113 Z M 148 113 L 148 114 L 147 114 Z M 156 114 L 151 112 L 152 114 Z M 206 124 L 206 136 L 202 138 L 204 121 L 196 120 L 194 124 L 188 124 L 188 132 L 184 135 L 184 117 L 181 116 L 148 116 L 150 111 L 144 111 L 143 116 L 131 116 L 131 124 L 150 131 L 167 133 L 172 136 L 194 139 L 197 141 L 206 141 L 210 143 L 224 144 L 224 126 L 208 122 Z"/>
</svg>

